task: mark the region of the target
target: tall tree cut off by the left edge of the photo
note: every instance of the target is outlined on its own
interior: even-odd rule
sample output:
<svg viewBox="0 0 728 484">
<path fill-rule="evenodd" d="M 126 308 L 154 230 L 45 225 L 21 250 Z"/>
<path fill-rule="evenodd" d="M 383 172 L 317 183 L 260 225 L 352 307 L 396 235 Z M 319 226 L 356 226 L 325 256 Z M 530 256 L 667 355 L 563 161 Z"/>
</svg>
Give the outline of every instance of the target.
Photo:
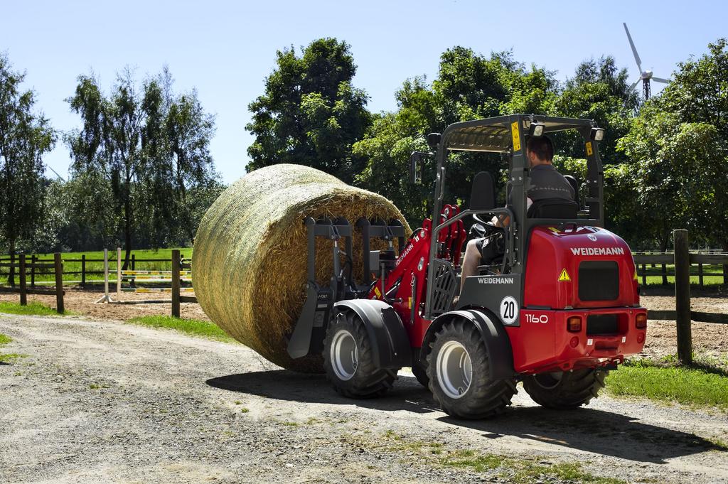
<svg viewBox="0 0 728 484">
<path fill-rule="evenodd" d="M 55 144 L 43 114 L 34 114 L 33 91 L 22 91 L 25 74 L 12 71 L 0 54 L 0 237 L 10 255 L 19 239 L 32 242 L 44 218 L 46 192 L 42 157 Z M 10 270 L 12 285 L 14 272 Z"/>
</svg>

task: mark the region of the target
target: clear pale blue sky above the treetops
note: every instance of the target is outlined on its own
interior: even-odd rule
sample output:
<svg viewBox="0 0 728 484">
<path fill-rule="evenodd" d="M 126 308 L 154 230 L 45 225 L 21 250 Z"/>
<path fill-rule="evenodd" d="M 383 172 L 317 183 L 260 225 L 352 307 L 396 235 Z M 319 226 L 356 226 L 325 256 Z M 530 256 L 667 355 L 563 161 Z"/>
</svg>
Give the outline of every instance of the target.
<svg viewBox="0 0 728 484">
<path fill-rule="evenodd" d="M 462 45 L 488 55 L 513 49 L 517 60 L 571 76 L 589 57 L 614 55 L 630 78 L 638 71 L 622 22 L 627 22 L 643 68 L 669 77 L 676 63 L 700 56 L 708 42 L 728 36 L 728 4 L 711 1 L 5 1 L 0 51 L 27 71 L 26 86 L 58 130 L 79 119 L 64 99 L 79 74 L 94 73 L 108 90 L 124 66 L 138 79 L 163 65 L 175 89 L 197 88 L 217 116 L 210 149 L 223 181 L 245 173 L 248 103 L 261 95 L 276 49 L 333 36 L 352 47 L 355 85 L 371 96 L 372 111 L 394 109 L 407 78 L 433 79 L 440 54 Z M 653 90 L 660 84 L 653 84 Z M 68 172 L 59 142 L 45 162 Z M 50 172 L 49 172 L 50 174 Z"/>
</svg>

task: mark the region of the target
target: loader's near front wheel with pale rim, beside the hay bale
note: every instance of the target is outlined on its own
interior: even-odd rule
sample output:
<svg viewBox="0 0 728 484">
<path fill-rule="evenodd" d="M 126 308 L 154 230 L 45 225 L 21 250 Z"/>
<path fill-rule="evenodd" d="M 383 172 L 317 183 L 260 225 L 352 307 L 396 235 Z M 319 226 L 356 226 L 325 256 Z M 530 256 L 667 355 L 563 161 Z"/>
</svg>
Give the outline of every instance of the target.
<svg viewBox="0 0 728 484">
<path fill-rule="evenodd" d="M 353 311 L 340 312 L 329 323 L 323 360 L 328 381 L 344 397 L 381 397 L 397 379 L 397 369 L 374 365 L 364 322 Z"/>
</svg>

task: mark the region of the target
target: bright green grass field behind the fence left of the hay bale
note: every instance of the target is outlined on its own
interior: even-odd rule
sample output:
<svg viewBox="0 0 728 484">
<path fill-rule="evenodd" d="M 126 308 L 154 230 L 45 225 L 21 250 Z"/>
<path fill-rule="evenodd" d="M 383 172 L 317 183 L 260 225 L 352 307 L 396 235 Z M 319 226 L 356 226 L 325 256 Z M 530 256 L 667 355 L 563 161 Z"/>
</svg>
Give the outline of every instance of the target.
<svg viewBox="0 0 728 484">
<path fill-rule="evenodd" d="M 138 271 L 169 271 L 172 269 L 172 250 L 173 249 L 159 249 L 159 250 L 133 250 L 132 254 L 135 259 L 165 259 L 162 262 L 136 262 L 135 269 Z M 183 258 L 189 259 L 192 257 L 191 247 L 180 248 L 180 253 Z M 50 262 L 53 261 L 53 254 L 36 254 L 39 261 Z M 63 282 L 71 283 L 71 281 L 80 281 L 81 274 L 72 274 L 74 272 L 81 271 L 81 258 L 82 255 L 86 255 L 86 271 L 98 271 L 103 272 L 103 262 L 89 262 L 89 259 L 97 259 L 103 261 L 103 250 L 95 250 L 90 252 L 67 252 L 61 256 L 63 258 Z M 4 263 L 8 262 L 9 255 L 1 255 L 0 259 Z M 122 264 L 124 263 L 124 252 L 122 251 Z M 116 249 L 109 250 L 108 252 L 108 270 L 116 271 Z M 7 285 L 7 274 L 8 268 L 0 268 L 0 285 Z M 109 275 L 110 281 L 115 281 L 114 273 Z M 28 285 L 31 282 L 31 277 L 28 269 Z M 55 275 L 50 270 L 50 274 L 36 274 L 36 282 L 55 282 Z M 87 274 L 86 282 L 103 282 L 103 274 Z M 17 272 L 15 277 L 15 284 L 17 285 Z"/>
</svg>

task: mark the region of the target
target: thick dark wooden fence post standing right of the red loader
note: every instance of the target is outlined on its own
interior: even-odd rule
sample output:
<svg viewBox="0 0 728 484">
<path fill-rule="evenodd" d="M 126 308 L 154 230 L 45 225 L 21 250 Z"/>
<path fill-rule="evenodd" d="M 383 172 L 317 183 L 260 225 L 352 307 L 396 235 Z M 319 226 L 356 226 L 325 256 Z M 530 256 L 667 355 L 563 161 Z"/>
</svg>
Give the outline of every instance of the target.
<svg viewBox="0 0 728 484">
<path fill-rule="evenodd" d="M 692 363 L 690 320 L 690 253 L 687 230 L 673 230 L 675 242 L 675 309 L 677 312 L 678 360 Z"/>
</svg>

